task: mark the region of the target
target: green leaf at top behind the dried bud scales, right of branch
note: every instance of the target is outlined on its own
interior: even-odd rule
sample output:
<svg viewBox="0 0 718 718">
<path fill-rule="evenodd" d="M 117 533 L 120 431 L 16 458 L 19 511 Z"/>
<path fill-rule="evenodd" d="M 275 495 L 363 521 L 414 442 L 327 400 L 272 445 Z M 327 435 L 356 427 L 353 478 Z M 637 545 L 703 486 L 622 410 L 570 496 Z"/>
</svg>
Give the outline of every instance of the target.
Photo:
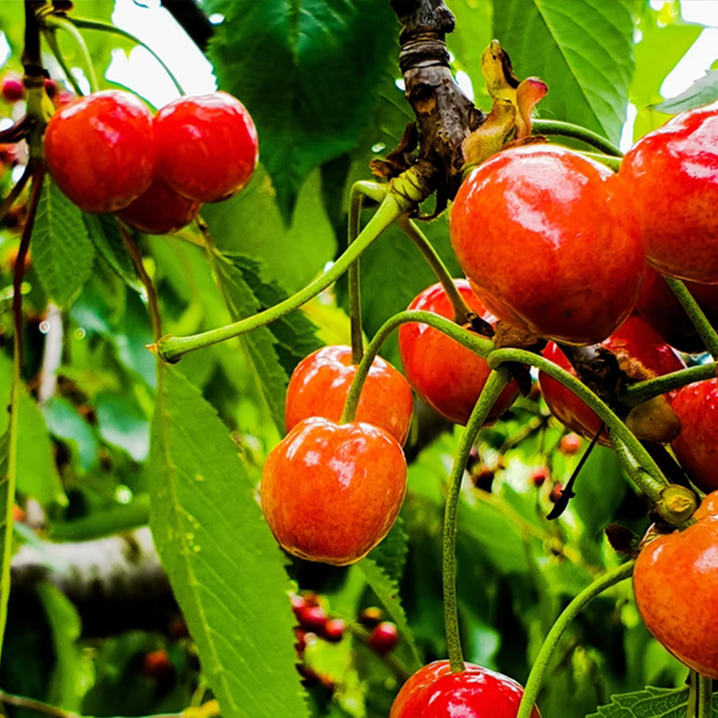
<svg viewBox="0 0 718 718">
<path fill-rule="evenodd" d="M 523 79 L 548 84 L 542 117 L 574 122 L 617 143 L 634 71 L 634 24 L 625 0 L 504 0 L 494 35 Z"/>
</svg>

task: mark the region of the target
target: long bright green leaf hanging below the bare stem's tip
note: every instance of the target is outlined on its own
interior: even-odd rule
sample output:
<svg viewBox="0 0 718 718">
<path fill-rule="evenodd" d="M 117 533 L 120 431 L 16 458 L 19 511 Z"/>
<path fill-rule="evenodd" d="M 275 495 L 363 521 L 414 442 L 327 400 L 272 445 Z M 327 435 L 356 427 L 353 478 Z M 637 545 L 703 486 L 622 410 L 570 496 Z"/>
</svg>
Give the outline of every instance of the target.
<svg viewBox="0 0 718 718">
<path fill-rule="evenodd" d="M 160 367 L 150 525 L 225 718 L 308 716 L 284 559 L 215 409 Z"/>
</svg>

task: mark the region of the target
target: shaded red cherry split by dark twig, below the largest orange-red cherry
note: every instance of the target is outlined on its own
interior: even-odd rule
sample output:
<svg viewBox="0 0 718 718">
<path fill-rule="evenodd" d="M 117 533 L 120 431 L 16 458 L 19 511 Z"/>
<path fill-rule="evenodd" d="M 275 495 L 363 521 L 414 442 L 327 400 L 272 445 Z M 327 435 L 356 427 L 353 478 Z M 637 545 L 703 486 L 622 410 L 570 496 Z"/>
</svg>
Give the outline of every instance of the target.
<svg viewBox="0 0 718 718">
<path fill-rule="evenodd" d="M 618 365 L 629 375 L 638 366 L 652 376 L 678 372 L 686 366 L 679 355 L 635 314 L 608 339 L 601 342 L 601 346 L 605 346 L 617 355 Z M 549 342 L 543 355 L 562 369 L 576 375 L 574 367 L 565 354 L 553 342 Z M 573 391 L 566 389 L 563 384 L 552 379 L 545 372 L 538 372 L 538 381 L 551 413 L 572 431 L 592 439 L 600 428 L 599 416 L 580 398 L 576 398 Z M 676 392 L 673 391 L 665 396 L 671 401 L 675 394 Z M 602 433 L 599 441 L 609 444 L 608 435 Z"/>
</svg>

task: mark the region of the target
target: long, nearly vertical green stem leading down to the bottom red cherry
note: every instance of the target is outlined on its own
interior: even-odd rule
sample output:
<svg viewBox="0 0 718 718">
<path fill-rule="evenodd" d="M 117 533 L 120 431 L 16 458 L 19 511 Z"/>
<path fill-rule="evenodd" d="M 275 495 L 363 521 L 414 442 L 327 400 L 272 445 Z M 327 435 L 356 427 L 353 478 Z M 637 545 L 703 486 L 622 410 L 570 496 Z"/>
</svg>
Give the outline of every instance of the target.
<svg viewBox="0 0 718 718">
<path fill-rule="evenodd" d="M 456 525 L 459 514 L 461 481 L 464 477 L 468 454 L 477 438 L 478 430 L 486 423 L 486 416 L 488 416 L 496 399 L 499 398 L 508 382 L 509 379 L 502 370 L 492 371 L 488 375 L 484 389 L 481 391 L 481 396 L 478 398 L 471 416 L 468 417 L 464 433 L 461 434 L 459 449 L 449 478 L 449 492 L 446 496 L 446 509 L 443 518 L 442 578 L 446 647 L 453 672 L 465 670 L 466 668 L 463 653 L 461 652 L 459 609 L 456 599 Z"/>
</svg>

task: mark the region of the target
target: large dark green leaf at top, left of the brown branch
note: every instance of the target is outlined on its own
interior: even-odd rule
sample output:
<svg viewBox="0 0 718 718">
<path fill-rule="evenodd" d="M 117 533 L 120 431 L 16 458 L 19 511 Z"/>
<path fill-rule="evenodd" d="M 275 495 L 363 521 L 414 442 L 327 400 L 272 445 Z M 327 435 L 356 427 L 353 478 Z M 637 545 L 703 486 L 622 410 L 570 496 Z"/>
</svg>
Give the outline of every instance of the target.
<svg viewBox="0 0 718 718">
<path fill-rule="evenodd" d="M 210 45 L 221 88 L 250 110 L 285 222 L 311 170 L 350 151 L 377 78 L 397 53 L 388 3 L 213 0 Z"/>
</svg>

